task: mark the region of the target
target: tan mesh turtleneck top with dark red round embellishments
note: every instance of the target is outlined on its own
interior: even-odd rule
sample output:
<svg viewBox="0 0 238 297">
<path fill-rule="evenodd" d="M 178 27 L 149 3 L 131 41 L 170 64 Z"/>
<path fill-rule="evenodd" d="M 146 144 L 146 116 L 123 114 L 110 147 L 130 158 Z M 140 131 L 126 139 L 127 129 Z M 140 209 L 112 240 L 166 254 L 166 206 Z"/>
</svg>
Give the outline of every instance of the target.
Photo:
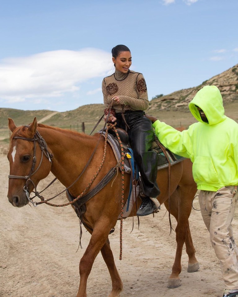
<svg viewBox="0 0 238 297">
<path fill-rule="evenodd" d="M 123 73 L 115 70 L 102 82 L 104 97 L 104 112 L 108 114 L 108 105 L 113 97 L 118 96 L 120 103 L 113 102 L 111 114 L 120 113 L 123 110 L 147 110 L 149 106 L 147 87 L 141 73 L 128 70 Z"/>
</svg>

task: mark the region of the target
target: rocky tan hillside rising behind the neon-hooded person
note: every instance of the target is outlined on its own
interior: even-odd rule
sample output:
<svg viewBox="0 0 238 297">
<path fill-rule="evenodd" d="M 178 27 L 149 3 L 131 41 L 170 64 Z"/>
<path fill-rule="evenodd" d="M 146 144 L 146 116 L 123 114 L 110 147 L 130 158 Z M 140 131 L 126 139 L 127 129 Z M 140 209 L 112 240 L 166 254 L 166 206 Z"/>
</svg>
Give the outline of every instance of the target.
<svg viewBox="0 0 238 297">
<path fill-rule="evenodd" d="M 220 89 L 224 105 L 238 100 L 238 64 L 221 74 L 213 76 L 209 80 L 205 80 L 197 87 L 182 89 L 169 95 L 152 99 L 148 111 L 153 113 L 153 111 L 158 110 L 183 109 L 185 106 L 187 108 L 188 103 L 195 96 L 196 92 L 205 85 L 215 85 Z"/>
</svg>

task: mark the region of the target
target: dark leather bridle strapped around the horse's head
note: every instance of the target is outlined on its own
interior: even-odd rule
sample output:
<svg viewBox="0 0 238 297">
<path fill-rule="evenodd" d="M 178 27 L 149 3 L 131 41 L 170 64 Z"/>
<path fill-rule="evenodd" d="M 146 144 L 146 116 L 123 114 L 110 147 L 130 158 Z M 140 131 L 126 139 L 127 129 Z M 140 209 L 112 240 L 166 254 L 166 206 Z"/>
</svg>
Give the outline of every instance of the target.
<svg viewBox="0 0 238 297">
<path fill-rule="evenodd" d="M 25 127 L 29 127 L 29 125 L 26 125 Z M 47 144 L 46 144 L 46 141 L 44 140 L 44 138 L 39 134 L 38 131 L 36 131 L 36 134 L 34 135 L 34 138 L 27 138 L 27 137 L 23 137 L 23 136 L 14 136 L 12 137 L 12 139 L 23 139 L 23 140 L 27 140 L 27 141 L 33 141 L 33 144 L 34 144 L 34 150 L 33 150 L 33 159 L 32 159 L 32 166 L 31 166 L 31 169 L 30 169 L 30 172 L 28 175 L 26 176 L 20 176 L 20 175 L 8 175 L 8 178 L 9 179 L 25 179 L 26 180 L 26 183 L 23 187 L 23 190 L 25 191 L 26 193 L 26 196 L 27 196 L 27 199 L 33 204 L 33 206 L 37 206 L 37 203 L 32 201 L 33 198 L 30 198 L 30 193 L 29 193 L 29 190 L 28 190 L 28 186 L 29 186 L 29 183 L 32 183 L 33 184 L 33 187 L 35 189 L 35 195 L 39 198 L 42 198 L 42 196 L 40 196 L 39 192 L 37 192 L 37 189 L 36 189 L 36 185 L 34 184 L 33 180 L 31 179 L 32 175 L 35 174 L 41 164 L 42 164 L 42 160 L 43 160 L 43 155 L 46 156 L 46 158 L 50 161 L 50 163 L 52 164 L 52 154 L 48 151 L 47 149 Z M 38 165 L 38 167 L 36 168 L 35 170 L 35 165 L 36 165 L 36 142 L 38 142 L 39 146 L 40 146 L 40 149 L 41 149 L 41 160 L 40 160 L 40 163 Z M 51 184 L 56 180 L 56 178 L 51 182 Z M 48 186 L 47 186 L 48 187 Z"/>
</svg>

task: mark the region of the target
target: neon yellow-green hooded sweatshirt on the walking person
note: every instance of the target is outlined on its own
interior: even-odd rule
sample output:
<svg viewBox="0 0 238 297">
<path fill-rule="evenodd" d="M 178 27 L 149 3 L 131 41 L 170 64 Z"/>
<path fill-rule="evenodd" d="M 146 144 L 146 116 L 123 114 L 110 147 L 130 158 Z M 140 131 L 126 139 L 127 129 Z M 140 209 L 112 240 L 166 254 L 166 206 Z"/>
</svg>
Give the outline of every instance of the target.
<svg viewBox="0 0 238 297">
<path fill-rule="evenodd" d="M 202 121 L 195 105 L 204 111 L 208 123 Z M 157 120 L 153 127 L 159 140 L 171 152 L 191 159 L 199 190 L 216 192 L 224 186 L 238 185 L 238 124 L 224 114 L 219 89 L 203 87 L 189 109 L 199 122 L 180 132 Z"/>
</svg>

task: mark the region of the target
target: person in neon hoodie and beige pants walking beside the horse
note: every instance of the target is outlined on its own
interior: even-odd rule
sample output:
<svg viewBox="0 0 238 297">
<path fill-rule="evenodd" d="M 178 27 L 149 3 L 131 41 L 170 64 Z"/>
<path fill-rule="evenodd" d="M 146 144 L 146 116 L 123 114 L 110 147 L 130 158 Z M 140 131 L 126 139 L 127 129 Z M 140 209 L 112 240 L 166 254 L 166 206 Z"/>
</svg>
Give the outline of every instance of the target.
<svg viewBox="0 0 238 297">
<path fill-rule="evenodd" d="M 238 249 L 231 227 L 238 197 L 238 124 L 224 114 L 216 86 L 201 88 L 189 109 L 198 122 L 182 132 L 147 117 L 167 149 L 191 159 L 203 221 L 220 260 L 223 297 L 238 297 Z"/>
</svg>

